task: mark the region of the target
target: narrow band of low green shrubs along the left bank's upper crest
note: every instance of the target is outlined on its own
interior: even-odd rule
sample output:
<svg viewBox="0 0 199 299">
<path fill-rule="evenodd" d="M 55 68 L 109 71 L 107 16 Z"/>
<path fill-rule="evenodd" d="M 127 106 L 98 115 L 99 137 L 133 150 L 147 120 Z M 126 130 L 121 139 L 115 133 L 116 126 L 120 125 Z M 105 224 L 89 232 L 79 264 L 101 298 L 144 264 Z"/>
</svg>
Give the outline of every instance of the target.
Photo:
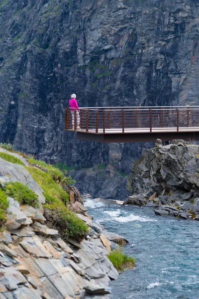
<svg viewBox="0 0 199 299">
<path fill-rule="evenodd" d="M 30 164 L 37 164 L 47 170 L 53 180 L 57 183 L 62 182 L 66 183 L 67 185 L 75 183 L 75 180 L 71 178 L 71 176 L 66 176 L 67 171 L 60 170 L 59 168 L 52 166 L 51 164 L 47 164 L 42 160 L 36 160 L 32 156 L 28 156 L 28 162 Z"/>
</svg>

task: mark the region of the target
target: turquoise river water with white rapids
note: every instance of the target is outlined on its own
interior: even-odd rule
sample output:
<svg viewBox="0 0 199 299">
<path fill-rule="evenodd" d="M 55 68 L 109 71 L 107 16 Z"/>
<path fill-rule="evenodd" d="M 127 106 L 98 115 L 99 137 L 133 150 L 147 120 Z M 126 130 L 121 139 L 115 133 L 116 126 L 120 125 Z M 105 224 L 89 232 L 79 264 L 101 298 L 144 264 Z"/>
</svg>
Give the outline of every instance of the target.
<svg viewBox="0 0 199 299">
<path fill-rule="evenodd" d="M 149 207 L 102 205 L 89 213 L 123 235 L 136 268 L 111 282 L 111 299 L 199 299 L 199 222 L 161 217 Z"/>
</svg>

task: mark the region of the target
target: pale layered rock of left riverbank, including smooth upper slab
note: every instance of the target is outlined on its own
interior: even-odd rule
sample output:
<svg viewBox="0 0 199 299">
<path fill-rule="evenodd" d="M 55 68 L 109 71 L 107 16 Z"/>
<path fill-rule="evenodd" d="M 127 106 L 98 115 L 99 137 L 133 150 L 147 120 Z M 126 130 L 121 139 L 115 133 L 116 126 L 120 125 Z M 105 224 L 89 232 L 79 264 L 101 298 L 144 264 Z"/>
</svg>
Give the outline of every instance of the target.
<svg viewBox="0 0 199 299">
<path fill-rule="evenodd" d="M 17 153 L 0 152 L 28 164 Z M 85 221 L 89 232 L 82 242 L 62 239 L 53 222 L 55 214 L 41 205 L 46 200 L 41 187 L 24 166 L 0 158 L 1 188 L 10 181 L 27 184 L 38 195 L 39 207 L 20 205 L 8 197 L 5 229 L 0 231 L 0 299 L 108 298 L 108 283 L 118 278 L 107 258 L 110 241 L 125 242 L 123 238 L 96 224 L 87 208 L 76 201 L 77 190 L 68 187 L 71 210 Z"/>
</svg>

